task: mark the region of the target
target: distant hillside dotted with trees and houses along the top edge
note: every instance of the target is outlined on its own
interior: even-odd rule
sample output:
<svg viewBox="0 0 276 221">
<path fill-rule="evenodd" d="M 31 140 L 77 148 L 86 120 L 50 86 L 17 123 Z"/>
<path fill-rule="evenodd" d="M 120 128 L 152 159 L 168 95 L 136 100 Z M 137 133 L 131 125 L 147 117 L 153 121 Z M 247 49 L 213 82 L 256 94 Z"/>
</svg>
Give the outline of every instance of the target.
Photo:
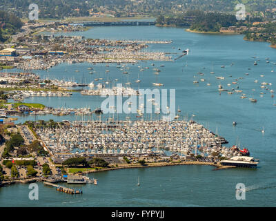
<svg viewBox="0 0 276 221">
<path fill-rule="evenodd" d="M 0 10 L 13 12 L 21 18 L 28 18 L 28 6 L 32 0 L 0 0 Z M 237 3 L 244 3 L 247 11 L 262 11 L 276 8 L 271 0 L 37 0 L 39 17 L 63 19 L 83 17 L 102 12 L 115 17 L 135 15 L 159 15 L 186 10 L 233 12 Z"/>
</svg>

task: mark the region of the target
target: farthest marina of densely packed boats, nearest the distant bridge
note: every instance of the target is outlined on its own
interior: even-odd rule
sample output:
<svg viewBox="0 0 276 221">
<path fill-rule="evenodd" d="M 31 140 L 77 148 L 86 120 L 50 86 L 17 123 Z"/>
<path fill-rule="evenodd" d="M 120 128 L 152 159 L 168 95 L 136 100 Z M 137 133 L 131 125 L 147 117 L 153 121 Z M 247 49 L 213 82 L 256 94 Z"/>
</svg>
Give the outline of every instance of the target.
<svg viewBox="0 0 276 221">
<path fill-rule="evenodd" d="M 135 64 L 140 60 L 171 61 L 166 52 L 150 52 L 142 49 L 148 48 L 147 44 L 171 44 L 172 41 L 112 41 L 108 39 L 83 39 L 81 36 L 49 36 L 42 35 L 44 41 L 61 41 L 71 48 L 77 48 L 77 53 L 52 51 L 52 46 L 47 46 L 49 52 L 41 52 L 44 57 L 37 56 L 37 59 L 18 59 L 17 68 L 22 70 L 48 70 L 62 63 L 75 64 L 88 62 L 97 63 L 130 63 Z M 45 46 L 45 43 L 43 43 Z M 30 52 L 30 55 L 33 55 Z M 58 55 L 57 59 L 52 59 Z"/>
</svg>

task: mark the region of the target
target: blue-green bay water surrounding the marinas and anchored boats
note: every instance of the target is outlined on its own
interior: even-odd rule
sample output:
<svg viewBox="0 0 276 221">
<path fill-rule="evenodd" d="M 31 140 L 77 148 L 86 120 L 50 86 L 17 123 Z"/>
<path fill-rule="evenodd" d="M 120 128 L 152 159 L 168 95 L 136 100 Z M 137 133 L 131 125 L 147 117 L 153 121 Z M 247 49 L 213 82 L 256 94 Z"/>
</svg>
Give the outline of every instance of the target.
<svg viewBox="0 0 276 221">
<path fill-rule="evenodd" d="M 177 61 L 141 61 L 130 67 L 130 81 L 141 79 L 140 88 L 152 88 L 155 82 L 153 68 L 159 68 L 158 81 L 163 88 L 176 89 L 176 106 L 181 108 L 181 114 L 195 115 L 193 119 L 204 124 L 210 130 L 218 128 L 219 135 L 226 138 L 230 145 L 236 144 L 239 138 L 242 146 L 250 150 L 253 157 L 260 160 L 257 169 L 228 169 L 213 171 L 210 166 L 171 166 L 150 169 L 126 169 L 96 173 L 98 186 L 81 186 L 83 195 L 71 196 L 57 193 L 55 189 L 39 184 L 39 200 L 28 200 L 28 185 L 16 184 L 0 189 L 0 205 L 5 206 L 276 206 L 275 202 L 275 108 L 273 98 L 268 90 L 260 88 L 260 83 L 273 83 L 275 88 L 276 50 L 267 43 L 244 41 L 242 35 L 202 35 L 186 32 L 182 28 L 159 28 L 153 26 L 139 27 L 98 27 L 86 32 L 66 33 L 66 35 L 83 35 L 90 38 L 105 39 L 167 39 L 172 44 L 152 44 L 147 50 L 176 53 L 190 49 L 188 56 Z M 173 48 L 174 47 L 174 48 Z M 181 50 L 178 50 L 181 48 Z M 257 58 L 253 58 L 256 56 Z M 270 63 L 266 64 L 266 57 Z M 258 65 L 254 66 L 254 61 Z M 259 60 L 259 61 L 258 61 Z M 233 66 L 230 64 L 233 63 Z M 164 64 L 164 68 L 159 66 Z M 212 68 L 214 75 L 210 75 Z M 186 66 L 187 65 L 187 66 Z M 225 68 L 221 68 L 224 65 Z M 96 71 L 90 75 L 88 67 Z M 100 76 L 106 78 L 105 70 L 110 70 L 109 79 L 119 79 L 126 82 L 126 76 L 116 68 L 116 64 L 61 64 L 48 71 L 38 70 L 35 73 L 42 78 L 56 77 L 58 79 L 83 78 L 87 83 Z M 150 69 L 140 72 L 137 66 L 148 66 Z M 205 69 L 204 69 L 205 68 Z M 248 70 L 251 68 L 251 70 Z M 75 70 L 79 70 L 76 73 Z M 204 76 L 197 75 L 198 72 Z M 249 73 L 248 76 L 244 75 Z M 232 75 L 232 77 L 229 77 Z M 259 75 L 265 75 L 260 77 Z M 194 77 L 195 76 L 195 77 Z M 224 80 L 217 80 L 215 76 L 223 76 Z M 227 86 L 239 77 L 237 85 Z M 201 82 L 199 79 L 206 81 Z M 197 79 L 198 85 L 193 84 Z M 254 83 L 258 79 L 259 83 Z M 206 86 L 210 83 L 211 86 Z M 240 93 L 228 95 L 219 92 L 217 86 L 235 88 L 239 86 L 248 97 L 257 99 L 253 104 L 248 99 L 240 99 Z M 137 84 L 132 86 L 137 88 Z M 255 89 L 253 92 L 252 89 Z M 260 97 L 264 92 L 264 97 Z M 33 97 L 26 102 L 38 102 L 54 107 L 83 107 L 97 108 L 104 98 L 83 96 L 73 93 L 72 97 Z M 108 117 L 108 115 L 104 116 Z M 121 115 L 120 119 L 125 116 Z M 135 117 L 133 115 L 132 117 Z M 39 119 L 75 119 L 74 116 L 39 116 Z M 18 122 L 24 122 L 34 117 L 22 117 Z M 80 117 L 78 119 L 81 119 Z M 233 121 L 237 126 L 233 127 Z M 265 133 L 262 134 L 262 128 Z M 141 188 L 135 186 L 140 177 Z M 239 182 L 246 186 L 254 186 L 246 192 L 246 200 L 235 199 L 235 185 Z M 15 198 L 16 196 L 16 198 Z M 6 204 L 9 198 L 8 204 Z"/>
</svg>

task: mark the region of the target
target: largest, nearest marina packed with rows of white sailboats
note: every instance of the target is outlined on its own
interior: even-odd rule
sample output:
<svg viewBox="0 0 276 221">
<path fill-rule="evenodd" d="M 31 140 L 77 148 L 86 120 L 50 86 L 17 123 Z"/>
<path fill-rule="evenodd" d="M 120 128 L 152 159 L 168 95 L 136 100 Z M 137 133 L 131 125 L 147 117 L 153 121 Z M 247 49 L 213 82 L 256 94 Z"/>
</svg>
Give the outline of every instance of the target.
<svg viewBox="0 0 276 221">
<path fill-rule="evenodd" d="M 36 133 L 50 154 L 57 156 L 177 153 L 213 159 L 216 155 L 226 158 L 245 155 L 238 146 L 222 146 L 228 143 L 223 137 L 192 121 L 78 121 L 66 122 L 62 128 L 55 128 L 55 133 L 52 131 L 37 128 Z"/>
</svg>

